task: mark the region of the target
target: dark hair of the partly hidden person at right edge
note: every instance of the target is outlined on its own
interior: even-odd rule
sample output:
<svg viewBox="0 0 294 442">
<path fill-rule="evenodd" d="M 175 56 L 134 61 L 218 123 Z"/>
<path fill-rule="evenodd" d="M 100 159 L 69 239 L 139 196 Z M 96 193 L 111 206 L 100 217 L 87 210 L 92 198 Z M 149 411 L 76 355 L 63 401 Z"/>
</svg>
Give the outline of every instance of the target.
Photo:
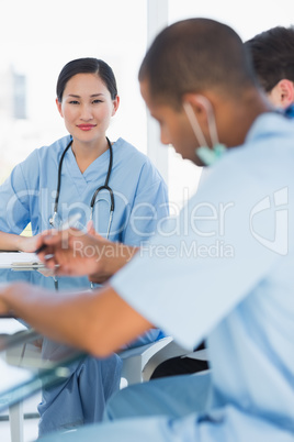
<svg viewBox="0 0 294 442">
<path fill-rule="evenodd" d="M 294 26 L 276 26 L 245 43 L 260 85 L 270 92 L 282 79 L 294 82 Z"/>
</svg>

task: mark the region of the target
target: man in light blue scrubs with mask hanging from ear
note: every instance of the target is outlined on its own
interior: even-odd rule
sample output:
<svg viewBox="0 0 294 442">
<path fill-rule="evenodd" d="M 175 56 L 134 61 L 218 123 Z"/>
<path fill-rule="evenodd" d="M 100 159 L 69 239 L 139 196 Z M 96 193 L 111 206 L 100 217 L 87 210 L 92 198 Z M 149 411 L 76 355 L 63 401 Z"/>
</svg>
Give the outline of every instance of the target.
<svg viewBox="0 0 294 442">
<path fill-rule="evenodd" d="M 10 287 L 1 310 L 99 356 L 151 324 L 188 350 L 206 339 L 211 379 L 178 376 L 131 387 L 110 407 L 121 419 L 44 442 L 293 441 L 293 123 L 260 93 L 238 35 L 212 20 L 163 30 L 139 81 L 161 141 L 211 165 L 207 179 L 177 225 L 162 225 L 97 296 L 53 303 L 53 294 Z M 54 254 L 48 265 L 82 272 L 74 236 L 67 250 L 58 235 L 43 241 Z M 105 246 L 94 236 L 82 241 Z M 108 259 L 83 265 L 105 272 Z"/>
</svg>

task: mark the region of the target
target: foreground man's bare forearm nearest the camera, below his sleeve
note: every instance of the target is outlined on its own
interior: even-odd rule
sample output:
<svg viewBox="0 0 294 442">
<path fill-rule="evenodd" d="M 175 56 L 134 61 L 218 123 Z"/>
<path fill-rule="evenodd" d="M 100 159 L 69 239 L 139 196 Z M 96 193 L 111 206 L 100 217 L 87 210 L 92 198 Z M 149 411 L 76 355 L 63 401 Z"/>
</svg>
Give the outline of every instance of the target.
<svg viewBox="0 0 294 442">
<path fill-rule="evenodd" d="M 151 327 L 110 286 L 69 294 L 13 284 L 0 292 L 0 309 L 13 311 L 54 341 L 102 357 Z"/>
</svg>

